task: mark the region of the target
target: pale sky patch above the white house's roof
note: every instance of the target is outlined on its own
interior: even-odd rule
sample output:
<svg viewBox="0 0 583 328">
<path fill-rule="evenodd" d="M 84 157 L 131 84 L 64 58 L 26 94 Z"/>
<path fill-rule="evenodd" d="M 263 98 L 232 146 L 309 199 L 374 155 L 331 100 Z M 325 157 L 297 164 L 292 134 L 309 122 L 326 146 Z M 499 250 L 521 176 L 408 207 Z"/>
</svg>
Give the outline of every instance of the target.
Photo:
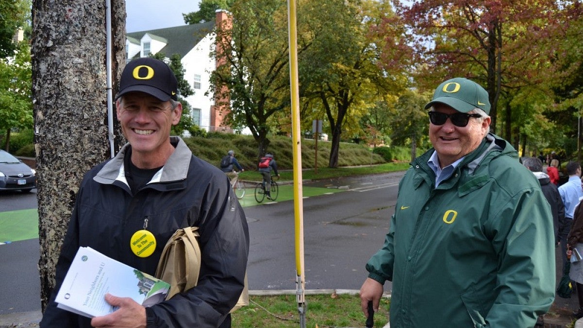
<svg viewBox="0 0 583 328">
<path fill-rule="evenodd" d="M 182 13 L 198 11 L 199 0 L 125 0 L 128 33 L 184 24 Z"/>
</svg>

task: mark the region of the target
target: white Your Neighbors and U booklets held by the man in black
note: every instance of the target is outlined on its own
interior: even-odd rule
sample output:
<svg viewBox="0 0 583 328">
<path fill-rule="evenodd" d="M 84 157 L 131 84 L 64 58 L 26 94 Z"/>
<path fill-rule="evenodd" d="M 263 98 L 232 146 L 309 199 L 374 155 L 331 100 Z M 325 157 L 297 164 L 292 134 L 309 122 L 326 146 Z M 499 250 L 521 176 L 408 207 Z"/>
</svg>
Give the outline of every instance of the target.
<svg viewBox="0 0 583 328">
<path fill-rule="evenodd" d="M 170 284 L 92 249 L 79 247 L 55 301 L 57 307 L 86 317 L 117 310 L 106 293 L 130 297 L 143 306 L 164 301 Z"/>
</svg>

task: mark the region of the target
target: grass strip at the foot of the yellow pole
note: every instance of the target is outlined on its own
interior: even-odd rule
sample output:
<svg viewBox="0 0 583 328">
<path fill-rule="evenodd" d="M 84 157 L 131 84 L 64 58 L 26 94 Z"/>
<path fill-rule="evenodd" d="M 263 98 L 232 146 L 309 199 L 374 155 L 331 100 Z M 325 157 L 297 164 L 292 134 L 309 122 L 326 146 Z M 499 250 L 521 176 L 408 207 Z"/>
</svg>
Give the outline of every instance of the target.
<svg viewBox="0 0 583 328">
<path fill-rule="evenodd" d="M 305 295 L 306 327 L 364 327 L 366 317 L 360 309 L 358 295 Z M 374 315 L 374 326 L 384 327 L 388 322 L 390 298 L 382 298 Z M 233 328 L 299 327 L 296 295 L 250 296 L 248 306 L 232 315 Z"/>
</svg>

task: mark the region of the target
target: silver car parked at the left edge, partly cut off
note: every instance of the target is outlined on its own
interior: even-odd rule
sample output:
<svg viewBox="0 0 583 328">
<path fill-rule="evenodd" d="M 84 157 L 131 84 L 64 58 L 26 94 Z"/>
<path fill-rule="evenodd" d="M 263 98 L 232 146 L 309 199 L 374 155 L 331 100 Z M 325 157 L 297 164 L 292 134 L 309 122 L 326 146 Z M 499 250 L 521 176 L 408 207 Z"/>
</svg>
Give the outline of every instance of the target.
<svg viewBox="0 0 583 328">
<path fill-rule="evenodd" d="M 36 188 L 36 171 L 22 160 L 0 150 L 0 190 L 29 192 Z"/>
</svg>

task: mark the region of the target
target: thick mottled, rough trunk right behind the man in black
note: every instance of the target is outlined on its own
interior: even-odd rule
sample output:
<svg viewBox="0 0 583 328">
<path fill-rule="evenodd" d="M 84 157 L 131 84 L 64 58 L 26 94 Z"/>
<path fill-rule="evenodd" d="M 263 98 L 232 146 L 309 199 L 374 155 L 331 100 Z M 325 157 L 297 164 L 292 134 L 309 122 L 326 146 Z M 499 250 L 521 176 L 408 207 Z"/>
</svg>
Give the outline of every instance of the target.
<svg viewBox="0 0 583 328">
<path fill-rule="evenodd" d="M 34 0 L 32 13 L 38 267 L 44 311 L 83 174 L 110 158 L 106 2 Z M 112 81 L 117 90 L 125 65 L 125 1 L 111 0 L 111 13 Z M 118 126 L 114 135 L 117 151 L 123 141 Z"/>
</svg>

